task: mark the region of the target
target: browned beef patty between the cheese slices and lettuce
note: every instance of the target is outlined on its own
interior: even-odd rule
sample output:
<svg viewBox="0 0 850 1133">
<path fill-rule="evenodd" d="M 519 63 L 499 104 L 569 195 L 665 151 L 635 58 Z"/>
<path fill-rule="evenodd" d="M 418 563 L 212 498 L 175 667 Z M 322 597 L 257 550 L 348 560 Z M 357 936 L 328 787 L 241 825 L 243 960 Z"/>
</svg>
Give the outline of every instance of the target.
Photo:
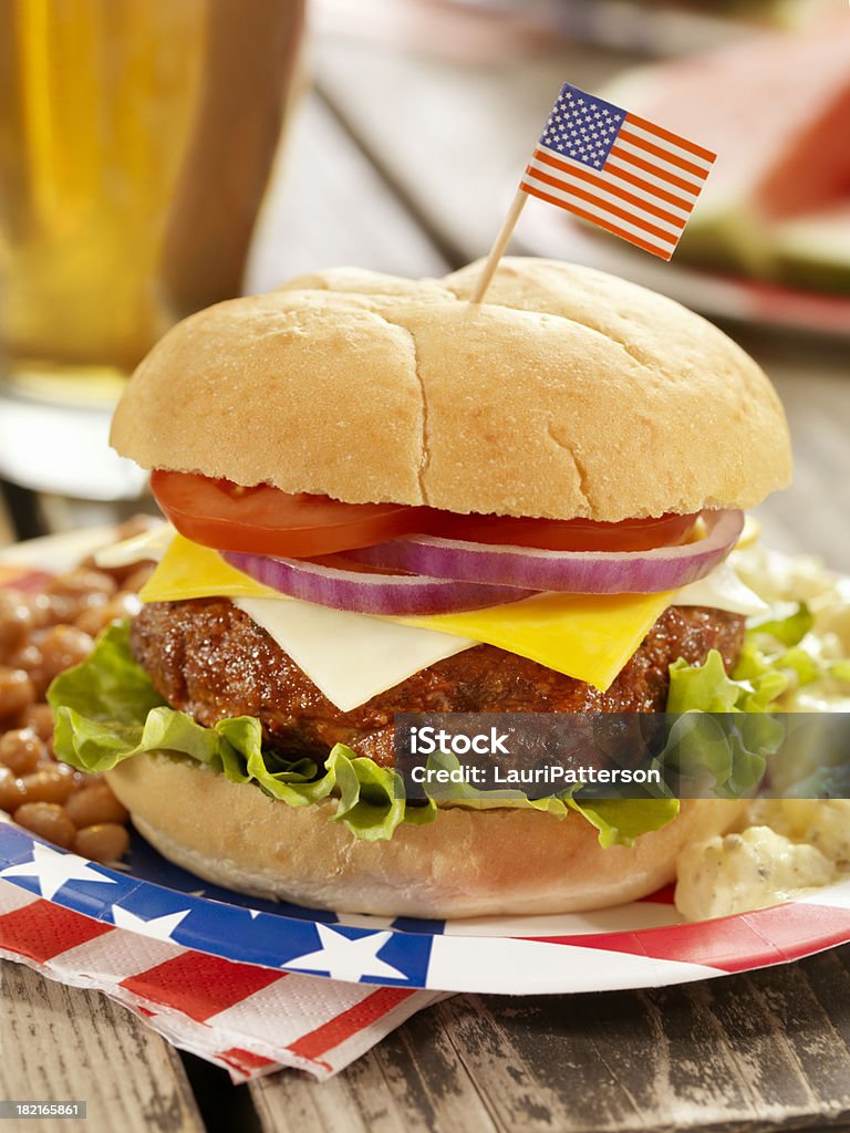
<svg viewBox="0 0 850 1133">
<path fill-rule="evenodd" d="M 201 724 L 256 716 L 266 744 L 290 758 L 321 761 L 334 743 L 346 743 L 391 766 L 392 717 L 399 712 L 662 712 L 671 662 L 683 657 L 692 665 L 719 649 L 730 668 L 741 649 L 743 621 L 719 610 L 671 607 L 605 692 L 479 645 L 352 712 L 334 707 L 269 633 L 226 598 L 151 603 L 135 619 L 130 641 L 158 692 Z"/>
</svg>

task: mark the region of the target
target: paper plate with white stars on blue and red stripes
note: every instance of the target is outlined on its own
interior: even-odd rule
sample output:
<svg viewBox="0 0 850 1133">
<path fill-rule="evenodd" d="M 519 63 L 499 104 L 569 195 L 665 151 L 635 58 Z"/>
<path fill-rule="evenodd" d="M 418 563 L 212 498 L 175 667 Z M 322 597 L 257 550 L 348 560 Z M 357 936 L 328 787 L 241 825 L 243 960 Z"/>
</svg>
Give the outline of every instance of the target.
<svg viewBox="0 0 850 1133">
<path fill-rule="evenodd" d="M 104 533 L 37 540 L 0 555 L 60 570 Z M 26 576 L 25 576 L 26 578 Z M 682 923 L 669 891 L 584 914 L 390 920 L 261 901 L 201 881 L 134 837 L 110 869 L 0 823 L 0 878 L 107 925 L 198 952 L 349 980 L 512 995 L 658 987 L 797 960 L 850 942 L 850 881 L 790 904 Z"/>
</svg>

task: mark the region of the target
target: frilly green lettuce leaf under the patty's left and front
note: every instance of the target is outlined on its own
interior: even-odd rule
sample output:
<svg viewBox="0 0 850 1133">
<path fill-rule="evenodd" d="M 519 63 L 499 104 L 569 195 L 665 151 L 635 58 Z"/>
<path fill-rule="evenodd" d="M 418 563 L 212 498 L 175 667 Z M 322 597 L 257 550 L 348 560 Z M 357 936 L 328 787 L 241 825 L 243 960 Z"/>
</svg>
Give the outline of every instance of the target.
<svg viewBox="0 0 850 1133">
<path fill-rule="evenodd" d="M 406 800 L 397 772 L 343 744 L 337 744 L 320 768 L 311 759 L 287 760 L 264 751 L 254 717 L 237 716 L 204 727 L 170 708 L 134 659 L 127 623 L 107 629 L 82 665 L 53 681 L 48 699 L 56 717 L 57 757 L 80 770 L 101 773 L 142 752 L 169 751 L 206 764 L 231 782 L 254 783 L 290 807 L 331 799 L 332 820 L 366 841 L 390 838 L 402 823 L 422 825 L 436 817 L 434 798 Z M 559 818 L 573 810 L 598 830 L 603 846 L 630 845 L 638 835 L 666 826 L 679 810 L 679 801 L 670 798 L 585 801 L 567 792 L 530 800 L 520 791 L 499 795 L 496 801 L 493 793 L 487 798 L 469 787 L 452 804 L 532 808 Z"/>
</svg>

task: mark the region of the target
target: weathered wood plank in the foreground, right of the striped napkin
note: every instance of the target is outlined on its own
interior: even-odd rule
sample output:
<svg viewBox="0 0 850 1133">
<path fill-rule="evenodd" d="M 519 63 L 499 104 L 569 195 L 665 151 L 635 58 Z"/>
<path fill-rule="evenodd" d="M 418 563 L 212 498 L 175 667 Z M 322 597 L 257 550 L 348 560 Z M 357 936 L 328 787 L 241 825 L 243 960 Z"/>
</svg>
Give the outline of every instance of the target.
<svg viewBox="0 0 850 1133">
<path fill-rule="evenodd" d="M 605 995 L 457 996 L 329 1083 L 252 1087 L 264 1130 L 768 1133 L 850 1121 L 850 948 Z"/>
</svg>

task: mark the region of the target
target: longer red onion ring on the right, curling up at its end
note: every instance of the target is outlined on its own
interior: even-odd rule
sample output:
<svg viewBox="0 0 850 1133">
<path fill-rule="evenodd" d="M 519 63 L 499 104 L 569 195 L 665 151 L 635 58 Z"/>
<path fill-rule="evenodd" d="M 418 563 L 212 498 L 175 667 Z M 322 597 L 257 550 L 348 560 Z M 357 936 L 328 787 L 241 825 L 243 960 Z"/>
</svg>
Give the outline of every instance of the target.
<svg viewBox="0 0 850 1133">
<path fill-rule="evenodd" d="M 373 566 L 527 590 L 660 594 L 708 574 L 743 530 L 741 511 L 706 511 L 702 518 L 705 538 L 652 551 L 538 551 L 413 535 L 346 554 Z"/>
</svg>

